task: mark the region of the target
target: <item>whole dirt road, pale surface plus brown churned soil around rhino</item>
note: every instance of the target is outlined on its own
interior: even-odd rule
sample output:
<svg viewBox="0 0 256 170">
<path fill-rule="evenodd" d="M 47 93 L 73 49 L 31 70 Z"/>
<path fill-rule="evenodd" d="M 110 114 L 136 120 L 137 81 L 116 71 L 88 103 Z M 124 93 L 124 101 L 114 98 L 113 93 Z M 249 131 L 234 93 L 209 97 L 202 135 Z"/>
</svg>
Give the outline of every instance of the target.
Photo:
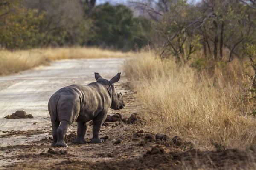
<svg viewBox="0 0 256 170">
<path fill-rule="evenodd" d="M 0 77 L 0 169 L 255 169 L 256 153 L 237 149 L 217 148 L 217 151 L 195 149 L 179 137 L 156 139 L 147 132 L 148 124 L 133 117 L 102 126 L 102 144 L 90 144 L 92 126 L 88 125 L 87 144 L 73 144 L 76 123 L 70 126 L 65 141 L 67 148 L 51 147 L 52 128 L 47 111 L 49 97 L 59 88 L 73 83 L 86 85 L 94 82 L 94 71 L 110 79 L 122 71 L 124 59 L 76 59 L 52 62 L 20 74 Z M 140 106 L 134 91 L 122 74 L 116 83 L 124 94 L 125 109 L 110 110 L 127 119 Z M 26 111 L 34 118 L 5 119 L 17 110 Z M 135 114 L 133 114 L 135 115 Z M 130 117 L 131 118 L 131 117 Z"/>
</svg>

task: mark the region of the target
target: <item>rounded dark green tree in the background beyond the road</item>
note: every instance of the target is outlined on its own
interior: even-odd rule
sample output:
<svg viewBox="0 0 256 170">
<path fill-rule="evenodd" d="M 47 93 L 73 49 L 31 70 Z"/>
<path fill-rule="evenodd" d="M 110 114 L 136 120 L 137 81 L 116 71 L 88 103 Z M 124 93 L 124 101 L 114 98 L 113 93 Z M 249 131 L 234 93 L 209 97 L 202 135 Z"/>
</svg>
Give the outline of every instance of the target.
<svg viewBox="0 0 256 170">
<path fill-rule="evenodd" d="M 145 18 L 134 17 L 127 6 L 110 3 L 96 6 L 91 19 L 94 24 L 91 31 L 95 35 L 92 45 L 130 50 L 135 44 L 140 48 L 148 43 L 143 32 L 150 30 L 150 23 Z"/>
</svg>

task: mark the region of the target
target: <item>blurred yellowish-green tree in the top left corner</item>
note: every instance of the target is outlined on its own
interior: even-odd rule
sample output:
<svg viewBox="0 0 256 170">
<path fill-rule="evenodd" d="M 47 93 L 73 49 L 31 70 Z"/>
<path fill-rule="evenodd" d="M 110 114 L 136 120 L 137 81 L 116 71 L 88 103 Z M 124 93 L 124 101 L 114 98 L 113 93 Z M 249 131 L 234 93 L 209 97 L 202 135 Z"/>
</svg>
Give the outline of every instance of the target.
<svg viewBox="0 0 256 170">
<path fill-rule="evenodd" d="M 38 45 L 43 34 L 39 24 L 45 13 L 23 7 L 17 0 L 0 2 L 0 45 L 2 48 L 33 48 Z"/>
</svg>

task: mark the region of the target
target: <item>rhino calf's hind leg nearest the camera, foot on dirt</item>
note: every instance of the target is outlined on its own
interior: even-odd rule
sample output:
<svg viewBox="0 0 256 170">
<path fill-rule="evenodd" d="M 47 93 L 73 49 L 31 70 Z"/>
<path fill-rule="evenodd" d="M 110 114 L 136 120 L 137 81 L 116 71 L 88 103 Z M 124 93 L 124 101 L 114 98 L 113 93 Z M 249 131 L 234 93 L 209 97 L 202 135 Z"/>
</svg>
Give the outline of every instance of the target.
<svg viewBox="0 0 256 170">
<path fill-rule="evenodd" d="M 67 147 L 67 144 L 64 141 L 65 134 L 67 133 L 67 129 L 70 126 L 70 123 L 66 120 L 61 121 L 61 125 L 58 127 L 58 140 L 55 146 Z"/>
</svg>

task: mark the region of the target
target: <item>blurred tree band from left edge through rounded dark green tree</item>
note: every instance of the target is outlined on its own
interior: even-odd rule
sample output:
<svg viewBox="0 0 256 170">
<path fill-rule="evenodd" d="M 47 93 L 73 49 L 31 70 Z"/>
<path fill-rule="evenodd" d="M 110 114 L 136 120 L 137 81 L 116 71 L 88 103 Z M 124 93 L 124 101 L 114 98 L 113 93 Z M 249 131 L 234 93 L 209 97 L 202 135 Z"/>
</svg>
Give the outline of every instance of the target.
<svg viewBox="0 0 256 170">
<path fill-rule="evenodd" d="M 122 51 L 148 43 L 150 20 L 125 5 L 80 0 L 0 0 L 1 48 L 99 46 Z"/>
</svg>

